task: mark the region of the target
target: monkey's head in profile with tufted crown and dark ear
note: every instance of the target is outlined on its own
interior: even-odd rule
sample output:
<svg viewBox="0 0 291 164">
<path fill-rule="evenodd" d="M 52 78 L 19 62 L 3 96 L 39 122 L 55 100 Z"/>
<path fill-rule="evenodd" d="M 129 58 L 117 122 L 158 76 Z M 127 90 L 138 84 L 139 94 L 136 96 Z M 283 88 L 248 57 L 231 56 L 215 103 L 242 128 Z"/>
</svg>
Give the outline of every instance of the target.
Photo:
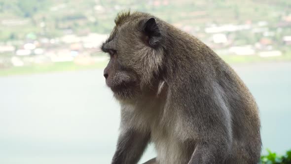
<svg viewBox="0 0 291 164">
<path fill-rule="evenodd" d="M 118 100 L 132 100 L 155 88 L 164 50 L 159 20 L 146 13 L 117 14 L 115 27 L 102 44 L 110 56 L 104 70 L 106 84 Z"/>
</svg>

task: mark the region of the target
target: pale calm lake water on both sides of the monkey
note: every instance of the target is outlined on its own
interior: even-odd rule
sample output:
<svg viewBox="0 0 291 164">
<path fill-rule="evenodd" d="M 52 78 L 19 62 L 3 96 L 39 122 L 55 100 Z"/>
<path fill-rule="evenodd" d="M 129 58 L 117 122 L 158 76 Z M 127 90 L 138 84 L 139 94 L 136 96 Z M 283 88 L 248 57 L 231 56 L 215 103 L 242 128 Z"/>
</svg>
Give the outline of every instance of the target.
<svg viewBox="0 0 291 164">
<path fill-rule="evenodd" d="M 233 67 L 258 103 L 263 149 L 291 149 L 291 63 Z M 0 164 L 109 164 L 118 125 L 103 70 L 0 77 Z"/>
</svg>

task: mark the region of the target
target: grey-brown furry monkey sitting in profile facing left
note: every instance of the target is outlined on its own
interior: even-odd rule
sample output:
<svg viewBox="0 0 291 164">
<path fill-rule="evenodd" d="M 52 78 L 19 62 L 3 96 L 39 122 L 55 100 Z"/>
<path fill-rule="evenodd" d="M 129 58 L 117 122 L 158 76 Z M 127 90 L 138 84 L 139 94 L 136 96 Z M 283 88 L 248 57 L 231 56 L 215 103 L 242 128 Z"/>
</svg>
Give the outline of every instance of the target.
<svg viewBox="0 0 291 164">
<path fill-rule="evenodd" d="M 121 107 L 111 164 L 257 164 L 258 107 L 235 71 L 194 36 L 144 12 L 119 12 L 107 86 Z"/>
</svg>

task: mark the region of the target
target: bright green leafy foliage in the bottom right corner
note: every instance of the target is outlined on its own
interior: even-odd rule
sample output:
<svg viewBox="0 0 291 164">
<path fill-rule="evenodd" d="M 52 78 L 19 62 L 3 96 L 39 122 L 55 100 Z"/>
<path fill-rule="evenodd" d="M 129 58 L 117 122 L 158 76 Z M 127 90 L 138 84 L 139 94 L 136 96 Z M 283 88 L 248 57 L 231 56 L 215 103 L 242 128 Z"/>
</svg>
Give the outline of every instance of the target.
<svg viewBox="0 0 291 164">
<path fill-rule="evenodd" d="M 268 155 L 261 156 L 261 164 L 291 164 L 291 150 L 287 151 L 285 155 L 280 156 L 274 152 L 268 151 Z"/>
</svg>

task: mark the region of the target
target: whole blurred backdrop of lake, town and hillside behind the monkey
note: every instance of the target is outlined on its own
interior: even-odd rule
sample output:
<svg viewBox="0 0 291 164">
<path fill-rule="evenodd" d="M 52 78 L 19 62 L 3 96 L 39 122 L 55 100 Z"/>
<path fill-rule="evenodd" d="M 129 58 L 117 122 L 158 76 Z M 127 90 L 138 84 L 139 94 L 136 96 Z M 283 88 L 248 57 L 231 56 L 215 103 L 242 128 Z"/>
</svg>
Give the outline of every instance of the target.
<svg viewBox="0 0 291 164">
<path fill-rule="evenodd" d="M 0 0 L 0 164 L 110 163 L 120 110 L 99 46 L 129 8 L 214 49 L 255 96 L 262 153 L 291 148 L 291 0 Z"/>
</svg>

